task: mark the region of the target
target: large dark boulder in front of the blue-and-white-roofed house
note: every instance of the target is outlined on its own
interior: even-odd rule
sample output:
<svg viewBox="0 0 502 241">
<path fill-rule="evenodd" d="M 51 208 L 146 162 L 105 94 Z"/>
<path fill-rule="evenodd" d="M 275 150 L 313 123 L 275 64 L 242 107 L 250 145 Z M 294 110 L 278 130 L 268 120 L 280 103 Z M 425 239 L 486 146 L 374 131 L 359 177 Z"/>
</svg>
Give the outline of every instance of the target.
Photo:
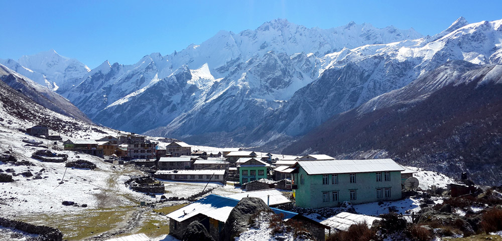
<svg viewBox="0 0 502 241">
<path fill-rule="evenodd" d="M 244 197 L 232 209 L 220 232 L 220 240 L 230 241 L 247 230 L 249 217 L 259 211 L 272 209 L 257 197 Z"/>
</svg>

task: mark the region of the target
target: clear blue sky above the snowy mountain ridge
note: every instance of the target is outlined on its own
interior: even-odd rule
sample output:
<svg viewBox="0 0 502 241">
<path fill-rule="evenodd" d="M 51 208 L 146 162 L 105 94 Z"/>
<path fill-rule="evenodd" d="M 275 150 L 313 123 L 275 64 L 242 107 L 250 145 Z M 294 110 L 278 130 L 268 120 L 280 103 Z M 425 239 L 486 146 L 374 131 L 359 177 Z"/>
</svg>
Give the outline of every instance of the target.
<svg viewBox="0 0 502 241">
<path fill-rule="evenodd" d="M 219 30 L 256 29 L 277 18 L 306 27 L 371 23 L 433 35 L 458 17 L 502 19 L 502 1 L 13 1 L 0 0 L 0 58 L 55 49 L 90 68 L 133 64 L 199 44 Z"/>
</svg>

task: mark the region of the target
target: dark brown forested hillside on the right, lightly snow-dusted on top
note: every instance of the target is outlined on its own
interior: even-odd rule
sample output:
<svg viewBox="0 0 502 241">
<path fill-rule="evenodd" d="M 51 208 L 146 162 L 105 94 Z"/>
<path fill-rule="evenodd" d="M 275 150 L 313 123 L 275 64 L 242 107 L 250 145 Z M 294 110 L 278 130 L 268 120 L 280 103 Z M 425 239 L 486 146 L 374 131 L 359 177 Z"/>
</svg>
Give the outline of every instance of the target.
<svg viewBox="0 0 502 241">
<path fill-rule="evenodd" d="M 390 157 L 500 185 L 502 66 L 453 61 L 337 114 L 284 149 L 344 158 Z"/>
</svg>

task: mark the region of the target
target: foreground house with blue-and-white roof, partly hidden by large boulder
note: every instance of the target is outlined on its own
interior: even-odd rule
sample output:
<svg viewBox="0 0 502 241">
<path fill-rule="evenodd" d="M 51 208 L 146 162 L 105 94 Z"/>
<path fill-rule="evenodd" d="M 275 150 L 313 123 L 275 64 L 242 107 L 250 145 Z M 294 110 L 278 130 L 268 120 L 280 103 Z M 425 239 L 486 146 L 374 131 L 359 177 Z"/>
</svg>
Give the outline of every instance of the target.
<svg viewBox="0 0 502 241">
<path fill-rule="evenodd" d="M 187 206 L 175 210 L 169 214 L 169 234 L 181 239 L 188 225 L 193 221 L 199 221 L 215 240 L 219 240 L 219 234 L 230 215 L 232 209 L 239 200 L 210 194 Z M 301 214 L 272 208 L 276 214 L 282 214 L 283 220 L 288 222 L 301 222 L 317 240 L 325 240 L 325 229 L 329 226 L 309 219 Z"/>
</svg>

